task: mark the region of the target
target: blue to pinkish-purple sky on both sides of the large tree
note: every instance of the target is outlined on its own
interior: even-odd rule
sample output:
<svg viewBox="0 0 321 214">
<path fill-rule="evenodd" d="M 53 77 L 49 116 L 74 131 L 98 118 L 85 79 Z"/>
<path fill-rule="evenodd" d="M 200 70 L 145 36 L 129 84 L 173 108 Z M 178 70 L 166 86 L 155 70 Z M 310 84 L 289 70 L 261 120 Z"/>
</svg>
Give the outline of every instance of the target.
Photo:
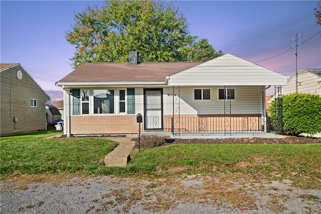
<svg viewBox="0 0 321 214">
<path fill-rule="evenodd" d="M 170 2 L 170 1 L 168 1 Z M 291 77 L 300 68 L 321 68 L 321 27 L 317 1 L 175 1 L 193 36 L 207 38 L 216 51 L 230 53 Z M 63 99 L 55 83 L 73 71 L 75 47 L 65 32 L 75 13 L 104 1 L 0 1 L 0 62 L 20 63 L 52 101 Z M 291 38 L 300 45 L 291 49 Z M 302 43 L 302 44 L 301 44 Z M 279 55 L 279 56 L 278 56 Z M 296 66 L 297 63 L 297 66 Z M 267 90 L 274 94 L 274 87 Z"/>
</svg>

